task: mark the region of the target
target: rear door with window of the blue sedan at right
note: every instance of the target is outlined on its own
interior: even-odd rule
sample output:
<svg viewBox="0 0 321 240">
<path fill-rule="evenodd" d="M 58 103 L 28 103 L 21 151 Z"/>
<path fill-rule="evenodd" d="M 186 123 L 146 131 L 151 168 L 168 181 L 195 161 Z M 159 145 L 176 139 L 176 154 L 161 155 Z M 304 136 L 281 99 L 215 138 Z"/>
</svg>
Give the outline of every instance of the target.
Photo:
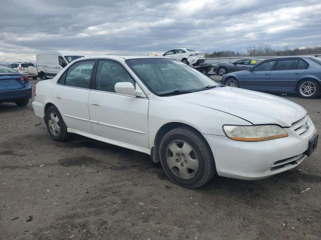
<svg viewBox="0 0 321 240">
<path fill-rule="evenodd" d="M 308 67 L 301 58 L 282 58 L 270 73 L 270 89 L 273 91 L 295 91 L 297 80 Z"/>
</svg>

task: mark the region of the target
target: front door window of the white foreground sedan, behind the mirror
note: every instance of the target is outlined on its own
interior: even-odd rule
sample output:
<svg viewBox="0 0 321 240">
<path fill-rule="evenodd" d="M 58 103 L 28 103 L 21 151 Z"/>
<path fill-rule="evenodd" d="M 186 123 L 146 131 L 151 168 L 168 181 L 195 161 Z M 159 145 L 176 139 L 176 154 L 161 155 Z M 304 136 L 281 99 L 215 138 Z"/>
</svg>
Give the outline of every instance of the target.
<svg viewBox="0 0 321 240">
<path fill-rule="evenodd" d="M 117 82 L 131 82 L 135 85 L 135 81 L 120 63 L 110 60 L 99 60 L 95 89 L 115 92 L 115 84 Z"/>
</svg>

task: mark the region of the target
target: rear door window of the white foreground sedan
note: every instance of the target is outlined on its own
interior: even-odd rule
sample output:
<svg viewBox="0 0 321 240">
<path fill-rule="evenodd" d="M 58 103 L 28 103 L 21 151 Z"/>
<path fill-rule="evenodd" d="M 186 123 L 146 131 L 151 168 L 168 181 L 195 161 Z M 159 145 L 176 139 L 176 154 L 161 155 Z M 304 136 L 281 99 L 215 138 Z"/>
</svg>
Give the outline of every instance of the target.
<svg viewBox="0 0 321 240">
<path fill-rule="evenodd" d="M 65 85 L 89 88 L 90 76 L 95 60 L 79 61 L 70 66 L 65 75 Z M 64 75 L 63 75 L 64 77 Z M 61 80 L 59 81 L 59 83 Z"/>
</svg>

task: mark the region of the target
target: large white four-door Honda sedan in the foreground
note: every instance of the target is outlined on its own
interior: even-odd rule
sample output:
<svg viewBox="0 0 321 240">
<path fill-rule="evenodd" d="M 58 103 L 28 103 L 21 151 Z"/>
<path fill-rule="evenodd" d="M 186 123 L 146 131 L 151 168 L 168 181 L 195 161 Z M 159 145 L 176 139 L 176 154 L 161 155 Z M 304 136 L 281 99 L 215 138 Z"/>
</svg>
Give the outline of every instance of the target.
<svg viewBox="0 0 321 240">
<path fill-rule="evenodd" d="M 318 138 L 296 103 L 224 86 L 166 57 L 76 59 L 34 95 L 54 140 L 77 133 L 150 154 L 189 188 L 215 174 L 251 180 L 291 169 Z"/>
</svg>

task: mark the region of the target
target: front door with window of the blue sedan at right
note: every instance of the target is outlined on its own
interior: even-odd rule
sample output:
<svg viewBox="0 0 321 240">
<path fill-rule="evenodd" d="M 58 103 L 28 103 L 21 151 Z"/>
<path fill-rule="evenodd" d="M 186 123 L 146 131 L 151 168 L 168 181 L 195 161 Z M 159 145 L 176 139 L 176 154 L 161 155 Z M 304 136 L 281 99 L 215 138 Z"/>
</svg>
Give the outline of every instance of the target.
<svg viewBox="0 0 321 240">
<path fill-rule="evenodd" d="M 245 71 L 244 79 L 239 82 L 240 86 L 251 90 L 270 90 L 270 72 L 275 62 L 276 59 L 263 61 L 252 71 Z"/>
</svg>

